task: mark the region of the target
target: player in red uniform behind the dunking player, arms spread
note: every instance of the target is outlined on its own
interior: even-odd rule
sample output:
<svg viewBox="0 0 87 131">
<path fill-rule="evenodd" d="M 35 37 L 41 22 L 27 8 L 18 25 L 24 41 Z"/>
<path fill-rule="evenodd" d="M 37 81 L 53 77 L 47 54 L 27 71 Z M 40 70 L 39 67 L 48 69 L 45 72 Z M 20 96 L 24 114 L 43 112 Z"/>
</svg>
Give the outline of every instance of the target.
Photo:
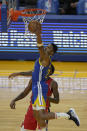
<svg viewBox="0 0 87 131">
<path fill-rule="evenodd" d="M 51 71 L 50 75 L 54 73 L 54 66 L 51 65 Z M 20 72 L 20 73 L 13 73 L 9 76 L 9 78 L 13 78 L 18 75 L 23 75 L 23 76 L 31 76 L 32 72 Z M 58 85 L 56 81 L 54 81 L 52 78 L 48 76 L 48 80 L 46 81 L 48 84 L 48 93 L 47 93 L 47 101 L 46 101 L 46 111 L 49 110 L 50 102 L 53 103 L 58 103 L 59 102 L 59 93 L 58 93 Z M 25 90 L 19 94 L 15 99 L 13 99 L 10 103 L 10 107 L 12 109 L 15 109 L 15 102 L 23 99 L 30 91 L 32 90 L 32 79 L 29 81 L 28 86 L 25 88 Z M 50 96 L 54 95 L 54 98 L 51 98 Z M 35 120 L 33 116 L 33 110 L 32 110 L 32 102 L 30 101 L 30 105 L 28 108 L 28 111 L 25 115 L 24 122 L 21 127 L 21 131 L 27 131 L 27 130 L 36 130 L 37 128 L 37 121 Z"/>
</svg>

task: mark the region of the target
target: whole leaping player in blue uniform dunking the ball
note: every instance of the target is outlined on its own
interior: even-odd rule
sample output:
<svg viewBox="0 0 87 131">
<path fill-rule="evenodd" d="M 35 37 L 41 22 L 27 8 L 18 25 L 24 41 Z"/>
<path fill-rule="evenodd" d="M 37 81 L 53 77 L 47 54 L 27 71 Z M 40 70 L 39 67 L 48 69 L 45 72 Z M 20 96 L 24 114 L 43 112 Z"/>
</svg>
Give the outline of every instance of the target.
<svg viewBox="0 0 87 131">
<path fill-rule="evenodd" d="M 72 119 L 79 126 L 79 119 L 73 109 L 71 109 L 68 113 L 45 112 L 48 86 L 46 84 L 46 79 L 51 67 L 51 57 L 56 53 L 57 46 L 52 43 L 44 48 L 41 39 L 41 24 L 39 22 L 35 23 L 35 21 L 34 23 L 32 22 L 29 26 L 37 24 L 38 27 L 34 33 L 37 36 L 37 47 L 40 53 L 40 57 L 36 60 L 34 71 L 32 73 L 32 107 L 34 117 L 43 130 L 46 130 L 45 120 L 55 119 L 57 117 L 66 117 L 68 119 Z M 30 31 L 32 32 L 32 30 Z M 74 114 L 74 116 L 72 116 L 72 114 Z"/>
</svg>

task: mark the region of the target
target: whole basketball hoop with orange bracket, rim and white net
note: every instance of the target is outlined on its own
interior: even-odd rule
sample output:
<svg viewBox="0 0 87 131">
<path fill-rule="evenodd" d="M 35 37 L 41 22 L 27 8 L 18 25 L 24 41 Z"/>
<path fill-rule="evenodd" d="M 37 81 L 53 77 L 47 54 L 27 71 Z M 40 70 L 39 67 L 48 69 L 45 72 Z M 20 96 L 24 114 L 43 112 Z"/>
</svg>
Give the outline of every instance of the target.
<svg viewBox="0 0 87 131">
<path fill-rule="evenodd" d="M 32 20 L 37 20 L 40 23 L 43 22 L 46 10 L 43 9 L 24 9 L 24 10 L 13 10 L 11 9 L 11 19 L 12 21 L 17 21 L 19 16 L 22 16 L 23 22 L 25 24 L 25 37 L 31 37 L 31 39 L 35 38 L 35 34 L 32 34 L 28 30 L 28 24 Z"/>
</svg>

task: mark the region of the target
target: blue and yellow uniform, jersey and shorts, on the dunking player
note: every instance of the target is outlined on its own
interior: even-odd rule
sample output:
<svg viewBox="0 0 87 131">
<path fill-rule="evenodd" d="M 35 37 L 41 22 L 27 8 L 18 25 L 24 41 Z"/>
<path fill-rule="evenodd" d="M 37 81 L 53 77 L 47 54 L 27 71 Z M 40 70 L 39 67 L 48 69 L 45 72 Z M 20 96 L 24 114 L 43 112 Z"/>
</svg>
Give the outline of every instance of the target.
<svg viewBox="0 0 87 131">
<path fill-rule="evenodd" d="M 51 63 L 49 66 L 42 66 L 40 59 L 35 62 L 34 71 L 32 73 L 32 104 L 33 106 L 46 106 L 48 85 L 46 80 L 50 72 Z"/>
</svg>

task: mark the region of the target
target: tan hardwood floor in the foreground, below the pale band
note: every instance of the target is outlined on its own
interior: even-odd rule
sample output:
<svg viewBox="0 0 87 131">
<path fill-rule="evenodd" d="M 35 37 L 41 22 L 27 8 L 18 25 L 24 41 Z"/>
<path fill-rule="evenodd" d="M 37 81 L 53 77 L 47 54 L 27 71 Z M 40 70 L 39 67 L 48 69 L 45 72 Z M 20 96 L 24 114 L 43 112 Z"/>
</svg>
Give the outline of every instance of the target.
<svg viewBox="0 0 87 131">
<path fill-rule="evenodd" d="M 9 103 L 21 91 L 0 88 L 0 131 L 20 131 L 21 122 L 29 105 L 29 96 L 17 102 L 15 110 L 10 109 Z M 87 92 L 60 93 L 60 103 L 51 104 L 51 111 L 67 112 L 71 107 L 76 109 L 81 126 L 77 127 L 69 120 L 57 119 L 49 122 L 49 131 L 87 131 Z"/>
</svg>

